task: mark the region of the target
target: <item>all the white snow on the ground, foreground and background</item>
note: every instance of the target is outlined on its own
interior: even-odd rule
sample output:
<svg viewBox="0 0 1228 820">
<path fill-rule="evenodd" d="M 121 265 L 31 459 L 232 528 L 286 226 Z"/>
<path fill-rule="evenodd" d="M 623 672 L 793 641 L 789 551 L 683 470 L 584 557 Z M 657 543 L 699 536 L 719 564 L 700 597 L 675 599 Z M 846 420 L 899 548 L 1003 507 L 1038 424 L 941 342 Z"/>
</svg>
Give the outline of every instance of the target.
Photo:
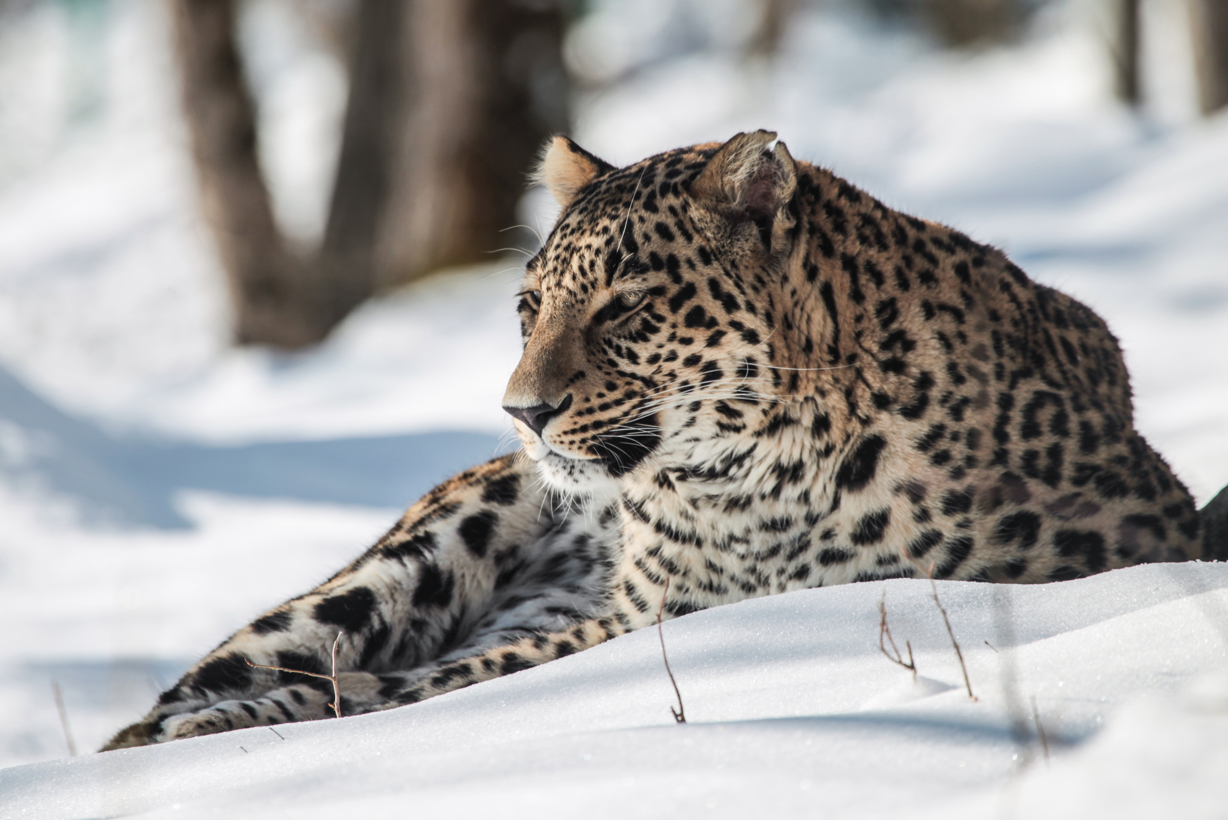
<svg viewBox="0 0 1228 820">
<path fill-rule="evenodd" d="M 248 4 L 246 38 L 275 27 L 279 1 Z M 1078 4 L 1024 45 L 974 54 L 828 4 L 775 65 L 748 66 L 720 26 L 661 39 L 691 43 L 678 59 L 616 53 L 620 20 L 642 33 L 678 26 L 662 9 L 709 7 L 620 2 L 597 4 L 571 44 L 620 77 L 580 101 L 583 145 L 625 162 L 774 128 L 795 156 L 1006 248 L 1108 319 L 1138 427 L 1200 503 L 1228 484 L 1228 115 L 1189 119 L 1179 53 L 1152 64 L 1156 102 L 1131 114 L 1106 93 Z M 1144 5 L 1172 17 L 1167 0 Z M 518 355 L 515 259 L 367 304 L 314 351 L 228 350 L 163 6 L 106 4 L 84 75 L 70 7 L 34 4 L 0 26 L 0 766 L 34 762 L 0 772 L 0 816 L 1223 816 L 1223 566 L 941 584 L 975 703 L 946 689 L 960 678 L 928 586 L 899 581 L 667 624 L 685 727 L 646 632 L 406 710 L 286 727 L 285 741 L 263 730 L 37 762 L 65 755 L 52 681 L 77 745 L 97 748 L 231 630 L 497 452 Z M 340 81 L 302 32 L 279 37 L 253 65 L 263 155 L 279 219 L 309 243 Z M 101 114 L 58 96 L 66 76 L 92 77 Z M 526 199 L 528 223 L 548 227 L 549 211 Z M 878 653 L 883 589 L 896 636 L 942 686 L 909 689 Z"/>
</svg>

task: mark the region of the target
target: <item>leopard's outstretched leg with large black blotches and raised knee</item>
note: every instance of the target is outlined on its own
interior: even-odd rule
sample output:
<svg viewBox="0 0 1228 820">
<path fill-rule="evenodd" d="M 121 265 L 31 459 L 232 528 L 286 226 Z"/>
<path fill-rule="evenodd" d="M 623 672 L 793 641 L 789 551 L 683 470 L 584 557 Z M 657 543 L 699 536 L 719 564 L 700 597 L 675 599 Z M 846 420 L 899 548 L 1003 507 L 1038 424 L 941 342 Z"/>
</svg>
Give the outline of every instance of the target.
<svg viewBox="0 0 1228 820">
<path fill-rule="evenodd" d="M 592 583 L 597 556 L 569 551 L 573 522 L 554 514 L 532 470 L 508 455 L 441 485 L 357 561 L 210 652 L 104 750 L 332 717 L 330 681 L 248 662 L 327 674 L 339 632 L 343 713 L 379 708 L 405 686 L 388 673 L 429 664 L 484 626 L 486 641 L 491 627 L 507 631 L 491 609 L 543 566 L 564 567 L 577 589 Z"/>
</svg>

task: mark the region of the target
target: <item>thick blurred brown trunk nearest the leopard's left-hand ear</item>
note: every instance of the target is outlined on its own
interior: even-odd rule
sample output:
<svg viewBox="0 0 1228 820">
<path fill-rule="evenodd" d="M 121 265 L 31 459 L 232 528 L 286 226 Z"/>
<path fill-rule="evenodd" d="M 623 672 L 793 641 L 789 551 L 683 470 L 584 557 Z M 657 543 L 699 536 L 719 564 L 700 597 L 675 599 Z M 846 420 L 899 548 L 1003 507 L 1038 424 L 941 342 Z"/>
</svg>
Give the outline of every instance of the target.
<svg viewBox="0 0 1228 820">
<path fill-rule="evenodd" d="M 491 259 L 516 242 L 537 151 L 564 130 L 558 0 L 414 0 L 406 9 L 395 184 L 377 243 L 379 286 Z"/>
</svg>

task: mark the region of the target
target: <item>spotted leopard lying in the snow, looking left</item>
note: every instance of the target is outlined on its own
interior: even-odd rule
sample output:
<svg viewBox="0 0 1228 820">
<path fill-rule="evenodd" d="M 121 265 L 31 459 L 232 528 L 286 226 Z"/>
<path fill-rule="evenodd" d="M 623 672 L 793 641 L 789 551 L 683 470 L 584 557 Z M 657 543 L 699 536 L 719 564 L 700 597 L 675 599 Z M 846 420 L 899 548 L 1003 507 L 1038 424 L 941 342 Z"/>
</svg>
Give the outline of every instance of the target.
<svg viewBox="0 0 1228 820">
<path fill-rule="evenodd" d="M 1200 557 L 1117 340 L 1003 252 L 766 130 L 626 167 L 560 135 L 537 178 L 560 211 L 517 295 L 521 449 L 103 750 L 411 707 L 761 595 Z"/>
</svg>

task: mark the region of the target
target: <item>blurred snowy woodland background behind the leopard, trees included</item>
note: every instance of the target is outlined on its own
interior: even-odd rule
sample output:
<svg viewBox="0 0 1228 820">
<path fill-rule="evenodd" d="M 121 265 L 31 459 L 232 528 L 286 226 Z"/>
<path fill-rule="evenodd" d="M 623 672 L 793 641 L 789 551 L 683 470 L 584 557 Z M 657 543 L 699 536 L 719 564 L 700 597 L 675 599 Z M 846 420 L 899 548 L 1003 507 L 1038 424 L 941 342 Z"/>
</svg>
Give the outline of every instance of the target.
<svg viewBox="0 0 1228 820">
<path fill-rule="evenodd" d="M 0 0 L 0 766 L 512 446 L 554 133 L 774 129 L 1005 248 L 1108 319 L 1205 503 L 1226 106 L 1228 0 Z"/>
</svg>

